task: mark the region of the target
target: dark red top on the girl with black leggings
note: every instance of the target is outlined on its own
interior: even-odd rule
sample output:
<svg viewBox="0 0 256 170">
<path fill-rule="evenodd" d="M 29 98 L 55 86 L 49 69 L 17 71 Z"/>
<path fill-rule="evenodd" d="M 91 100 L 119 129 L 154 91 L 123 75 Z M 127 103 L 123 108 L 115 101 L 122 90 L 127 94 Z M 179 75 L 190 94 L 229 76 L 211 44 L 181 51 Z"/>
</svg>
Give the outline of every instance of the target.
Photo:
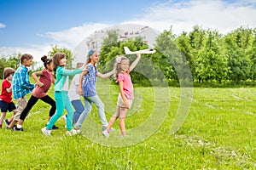
<svg viewBox="0 0 256 170">
<path fill-rule="evenodd" d="M 46 96 L 47 91 L 50 88 L 51 82 L 53 80 L 53 75 L 51 72 L 49 72 L 47 69 L 43 70 L 43 75 L 39 78 L 40 82 L 44 83 L 43 87 L 37 86 L 32 91 L 32 96 L 36 98 L 44 98 Z"/>
</svg>

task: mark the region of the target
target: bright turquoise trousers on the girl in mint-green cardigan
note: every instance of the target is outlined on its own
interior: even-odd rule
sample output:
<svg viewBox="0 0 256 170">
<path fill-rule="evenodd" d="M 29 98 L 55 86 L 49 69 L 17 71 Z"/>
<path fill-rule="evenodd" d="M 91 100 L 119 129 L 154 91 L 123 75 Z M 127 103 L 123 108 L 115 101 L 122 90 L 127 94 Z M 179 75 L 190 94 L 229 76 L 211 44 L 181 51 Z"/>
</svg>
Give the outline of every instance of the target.
<svg viewBox="0 0 256 170">
<path fill-rule="evenodd" d="M 70 102 L 70 99 L 67 95 L 67 91 L 56 92 L 55 91 L 55 100 L 56 100 L 56 112 L 54 116 L 49 119 L 49 122 L 46 125 L 46 129 L 52 129 L 55 122 L 63 115 L 64 109 L 67 111 L 67 130 L 73 129 L 73 106 Z"/>
</svg>

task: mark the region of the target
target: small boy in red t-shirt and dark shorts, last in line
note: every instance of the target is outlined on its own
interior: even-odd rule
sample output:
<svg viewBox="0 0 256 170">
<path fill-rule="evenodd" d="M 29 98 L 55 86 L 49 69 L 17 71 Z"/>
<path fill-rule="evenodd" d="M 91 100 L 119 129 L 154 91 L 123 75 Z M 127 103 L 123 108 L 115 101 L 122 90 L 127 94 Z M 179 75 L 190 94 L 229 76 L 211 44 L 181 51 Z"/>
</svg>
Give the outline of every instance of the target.
<svg viewBox="0 0 256 170">
<path fill-rule="evenodd" d="M 16 107 L 14 102 L 12 101 L 12 84 L 9 82 L 13 75 L 15 74 L 15 69 L 12 68 L 5 68 L 3 70 L 3 82 L 2 82 L 2 93 L 0 95 L 0 109 L 2 111 L 2 116 L 0 117 L 0 128 L 3 127 L 3 119 L 6 116 L 7 111 L 13 111 L 14 115 L 16 113 Z M 14 116 L 6 119 L 4 122 L 6 122 L 7 125 L 9 125 L 9 122 L 13 120 Z"/>
</svg>

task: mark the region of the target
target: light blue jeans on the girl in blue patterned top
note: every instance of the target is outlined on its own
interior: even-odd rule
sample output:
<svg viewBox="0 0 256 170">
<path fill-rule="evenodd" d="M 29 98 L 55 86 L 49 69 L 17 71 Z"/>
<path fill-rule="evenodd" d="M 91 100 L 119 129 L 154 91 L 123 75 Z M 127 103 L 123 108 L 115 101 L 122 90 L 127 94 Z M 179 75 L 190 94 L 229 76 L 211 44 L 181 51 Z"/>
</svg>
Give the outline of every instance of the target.
<svg viewBox="0 0 256 170">
<path fill-rule="evenodd" d="M 79 129 L 82 127 L 82 124 L 84 122 L 84 119 L 86 116 L 89 115 L 91 111 L 91 105 L 94 103 L 99 111 L 99 116 L 102 122 L 103 127 L 108 127 L 108 122 L 104 113 L 104 104 L 102 103 L 102 100 L 97 96 L 91 96 L 91 97 L 85 97 L 84 96 L 84 102 L 85 102 L 85 108 L 83 113 L 80 115 L 78 122 L 76 123 L 76 127 Z"/>
</svg>

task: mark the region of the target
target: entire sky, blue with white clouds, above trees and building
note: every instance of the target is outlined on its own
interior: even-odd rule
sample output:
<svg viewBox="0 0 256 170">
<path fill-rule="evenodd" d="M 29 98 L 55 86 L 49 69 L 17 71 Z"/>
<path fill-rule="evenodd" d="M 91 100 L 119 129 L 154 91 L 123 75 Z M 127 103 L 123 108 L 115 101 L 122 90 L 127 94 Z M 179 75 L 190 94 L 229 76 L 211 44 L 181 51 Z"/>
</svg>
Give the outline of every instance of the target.
<svg viewBox="0 0 256 170">
<path fill-rule="evenodd" d="M 222 33 L 256 27 L 255 0 L 0 0 L 0 55 L 73 49 L 92 32 L 124 23 L 177 35 L 198 25 Z"/>
</svg>

